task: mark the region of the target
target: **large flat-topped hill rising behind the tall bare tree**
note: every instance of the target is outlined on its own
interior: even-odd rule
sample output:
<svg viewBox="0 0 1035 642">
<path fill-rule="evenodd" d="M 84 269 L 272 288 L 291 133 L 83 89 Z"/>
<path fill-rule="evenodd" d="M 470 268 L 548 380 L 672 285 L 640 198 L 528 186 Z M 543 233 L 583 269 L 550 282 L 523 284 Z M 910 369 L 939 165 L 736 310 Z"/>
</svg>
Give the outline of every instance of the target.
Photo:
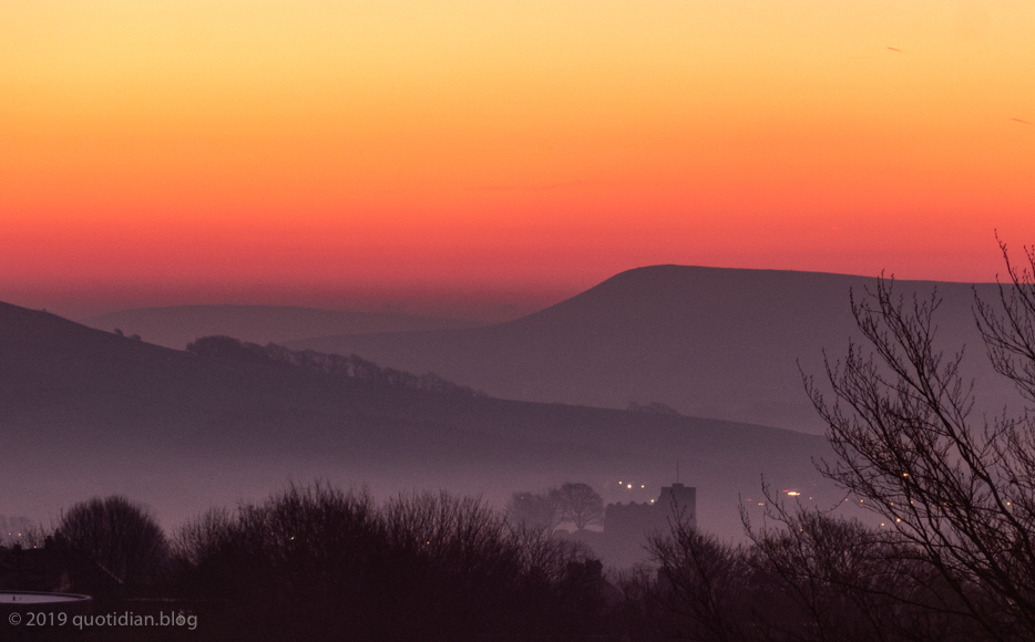
<svg viewBox="0 0 1035 642">
<path fill-rule="evenodd" d="M 526 401 L 604 407 L 660 403 L 680 413 L 819 433 L 801 384 L 822 350 L 843 354 L 849 292 L 874 279 L 781 270 L 653 266 L 622 272 L 556 306 L 483 328 L 336 335 L 295 349 L 358 353 L 383 366 L 431 370 L 461 385 Z M 1013 394 L 986 363 L 971 306 L 995 284 L 899 281 L 906 297 L 944 299 L 941 344 L 970 345 L 966 367 L 991 412 Z"/>
</svg>

